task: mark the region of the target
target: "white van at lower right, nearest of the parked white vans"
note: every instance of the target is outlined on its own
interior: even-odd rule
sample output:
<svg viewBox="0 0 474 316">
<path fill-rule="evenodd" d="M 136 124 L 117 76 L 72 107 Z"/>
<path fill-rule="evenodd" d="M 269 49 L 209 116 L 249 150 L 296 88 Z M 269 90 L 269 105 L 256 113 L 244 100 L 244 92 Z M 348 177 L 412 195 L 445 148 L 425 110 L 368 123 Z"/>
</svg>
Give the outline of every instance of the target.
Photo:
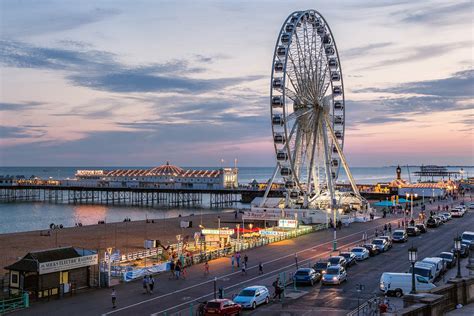
<svg viewBox="0 0 474 316">
<path fill-rule="evenodd" d="M 387 295 L 400 297 L 411 292 L 411 273 L 384 272 L 380 277 L 380 290 Z M 415 274 L 415 288 L 417 292 L 427 292 L 436 285 Z"/>
</svg>

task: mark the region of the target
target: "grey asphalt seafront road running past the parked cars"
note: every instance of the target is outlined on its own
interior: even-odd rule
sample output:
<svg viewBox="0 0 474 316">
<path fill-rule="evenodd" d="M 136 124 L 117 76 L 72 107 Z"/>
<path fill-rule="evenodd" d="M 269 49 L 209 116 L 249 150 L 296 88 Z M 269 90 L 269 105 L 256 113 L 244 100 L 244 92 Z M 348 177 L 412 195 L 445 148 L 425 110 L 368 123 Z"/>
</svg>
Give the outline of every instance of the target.
<svg viewBox="0 0 474 316">
<path fill-rule="evenodd" d="M 349 281 L 340 287 L 323 287 L 304 289 L 308 293 L 298 300 L 287 298 L 284 303 L 272 303 L 260 307 L 261 313 L 275 314 L 287 306 L 311 310 L 318 308 L 334 312 L 346 311 L 357 306 L 355 285 L 365 284 L 366 293 L 377 289 L 380 274 L 383 271 L 405 271 L 408 268 L 407 249 L 413 244 L 419 248 L 419 256 L 437 255 L 441 250 L 448 249 L 456 232 L 467 230 L 474 223 L 473 214 L 466 215 L 462 220 L 454 219 L 437 230 L 428 232 L 417 238 L 410 238 L 408 244 L 394 245 L 389 252 L 361 262 L 349 269 Z M 374 229 L 381 229 L 387 222 L 396 227 L 397 217 L 377 219 L 369 223 L 353 223 L 348 228 L 338 231 L 339 249 L 352 247 L 360 242 L 362 234 L 373 234 Z M 247 275 L 240 271 L 232 271 L 229 258 L 220 258 L 210 262 L 210 275 L 204 276 L 202 265 L 188 269 L 186 280 L 169 280 L 168 275 L 157 276 L 155 293 L 142 294 L 141 282 L 121 284 L 116 287 L 118 307 L 111 308 L 110 290 L 91 290 L 73 297 L 36 303 L 30 309 L 18 312 L 19 315 L 189 315 L 196 301 L 210 299 L 213 296 L 214 278 L 217 287 L 224 287 L 225 296 L 231 297 L 236 291 L 248 285 L 262 284 L 271 286 L 276 276 L 295 270 L 295 253 L 298 264 L 308 265 L 319 258 L 327 258 L 332 253 L 332 231 L 325 230 L 297 239 L 286 240 L 246 252 L 249 257 Z M 258 275 L 257 265 L 264 264 L 264 274 Z M 255 312 L 246 312 L 255 314 Z M 299 313 L 298 313 L 299 314 Z"/>
</svg>

